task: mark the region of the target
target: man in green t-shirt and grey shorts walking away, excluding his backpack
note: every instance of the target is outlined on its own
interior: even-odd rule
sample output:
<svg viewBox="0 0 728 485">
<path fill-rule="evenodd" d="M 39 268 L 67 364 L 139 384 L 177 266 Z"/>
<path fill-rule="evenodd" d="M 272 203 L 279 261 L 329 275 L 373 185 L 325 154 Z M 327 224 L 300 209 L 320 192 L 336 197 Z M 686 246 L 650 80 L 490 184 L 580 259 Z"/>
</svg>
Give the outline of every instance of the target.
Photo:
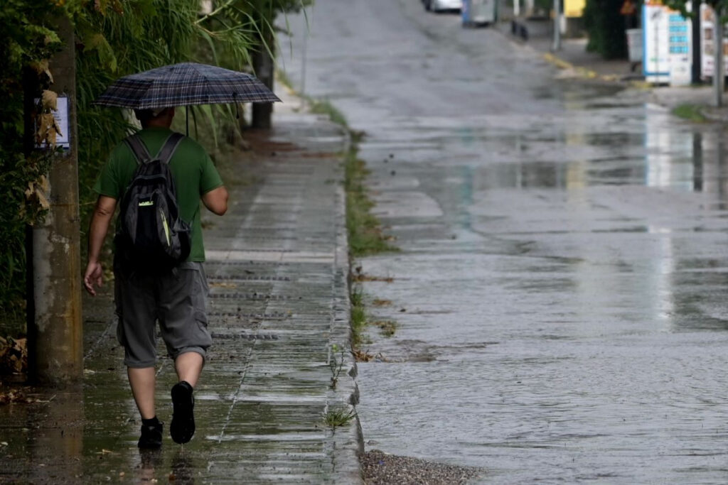
<svg viewBox="0 0 728 485">
<path fill-rule="evenodd" d="M 170 135 L 174 108 L 135 111 L 142 129 L 138 137 L 149 153 L 158 153 Z M 114 148 L 94 187 L 99 194 L 89 230 L 88 265 L 84 286 L 95 295 L 103 270 L 100 252 L 116 203 L 130 185 L 138 161 L 129 145 Z M 169 161 L 179 207 L 179 216 L 191 227 L 190 253 L 185 262 L 163 273 L 132 268 L 114 257 L 114 299 L 119 324 L 116 337 L 124 346 L 124 364 L 132 395 L 141 414 L 140 448 L 162 446 L 162 422 L 154 407 L 157 361 L 156 322 L 167 352 L 175 361 L 179 382 L 171 390 L 173 418 L 170 435 L 176 443 L 190 441 L 194 434 L 193 390 L 212 343 L 207 331 L 205 303 L 207 280 L 202 262 L 200 204 L 216 215 L 227 211 L 228 193 L 205 149 L 188 137 L 179 143 Z M 165 221 L 166 224 L 166 221 Z"/>
</svg>

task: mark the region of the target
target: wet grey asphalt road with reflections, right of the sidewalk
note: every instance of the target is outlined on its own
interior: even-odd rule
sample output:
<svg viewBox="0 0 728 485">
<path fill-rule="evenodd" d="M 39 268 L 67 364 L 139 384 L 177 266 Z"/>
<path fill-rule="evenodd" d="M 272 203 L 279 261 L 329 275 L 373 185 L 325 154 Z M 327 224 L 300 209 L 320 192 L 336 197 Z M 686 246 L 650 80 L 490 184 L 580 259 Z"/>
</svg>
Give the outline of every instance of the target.
<svg viewBox="0 0 728 485">
<path fill-rule="evenodd" d="M 363 130 L 367 449 L 485 483 L 728 481 L 724 134 L 419 0 L 317 0 L 288 77 Z M 305 47 L 305 56 L 303 55 Z M 305 65 L 305 68 L 304 68 Z M 373 299 L 391 300 L 375 306 Z"/>
</svg>

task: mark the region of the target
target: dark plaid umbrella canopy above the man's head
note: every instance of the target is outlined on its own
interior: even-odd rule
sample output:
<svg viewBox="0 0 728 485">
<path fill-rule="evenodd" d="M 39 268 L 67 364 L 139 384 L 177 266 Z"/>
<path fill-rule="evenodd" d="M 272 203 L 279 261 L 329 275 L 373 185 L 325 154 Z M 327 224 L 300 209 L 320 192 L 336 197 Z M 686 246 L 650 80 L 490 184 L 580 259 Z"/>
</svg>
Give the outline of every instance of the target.
<svg viewBox="0 0 728 485">
<path fill-rule="evenodd" d="M 153 109 L 274 101 L 280 99 L 255 76 L 214 65 L 180 63 L 116 79 L 94 104 Z"/>
</svg>

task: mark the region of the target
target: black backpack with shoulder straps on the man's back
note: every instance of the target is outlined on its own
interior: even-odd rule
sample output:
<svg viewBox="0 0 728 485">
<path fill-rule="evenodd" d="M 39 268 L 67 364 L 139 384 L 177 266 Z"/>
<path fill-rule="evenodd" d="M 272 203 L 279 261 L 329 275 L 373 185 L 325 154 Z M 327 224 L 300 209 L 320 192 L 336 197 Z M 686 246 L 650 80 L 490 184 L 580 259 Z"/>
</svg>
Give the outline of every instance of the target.
<svg viewBox="0 0 728 485">
<path fill-rule="evenodd" d="M 138 135 L 124 139 L 138 167 L 124 191 L 116 231 L 122 268 L 165 273 L 189 256 L 190 226 L 179 217 L 169 161 L 184 136 L 173 133 L 152 157 Z"/>
</svg>

